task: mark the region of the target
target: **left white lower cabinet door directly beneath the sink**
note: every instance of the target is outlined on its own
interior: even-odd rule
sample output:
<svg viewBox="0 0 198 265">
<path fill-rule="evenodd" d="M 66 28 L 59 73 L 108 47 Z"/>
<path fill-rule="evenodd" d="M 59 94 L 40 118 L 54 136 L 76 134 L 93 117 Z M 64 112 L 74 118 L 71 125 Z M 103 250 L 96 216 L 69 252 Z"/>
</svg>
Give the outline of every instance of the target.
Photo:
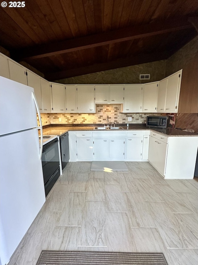
<svg viewBox="0 0 198 265">
<path fill-rule="evenodd" d="M 93 139 L 93 157 L 109 157 L 109 139 Z"/>
</svg>

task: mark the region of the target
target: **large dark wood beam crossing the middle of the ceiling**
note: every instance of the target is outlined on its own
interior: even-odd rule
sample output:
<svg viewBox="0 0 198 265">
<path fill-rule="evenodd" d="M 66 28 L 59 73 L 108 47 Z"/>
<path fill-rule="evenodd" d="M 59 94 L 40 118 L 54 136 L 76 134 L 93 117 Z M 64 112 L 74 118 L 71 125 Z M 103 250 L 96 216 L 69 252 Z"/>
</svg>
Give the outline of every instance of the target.
<svg viewBox="0 0 198 265">
<path fill-rule="evenodd" d="M 28 58 L 37 59 L 116 42 L 183 30 L 191 27 L 193 26 L 189 21 L 187 21 L 187 19 L 183 19 L 181 21 L 156 21 L 155 23 L 153 22 L 146 25 L 134 26 L 132 28 L 114 30 L 91 36 L 61 41 L 58 43 L 48 43 L 29 48 L 23 48 L 20 50 L 14 50 L 11 51 L 11 57 L 16 61 L 23 61 Z"/>
</svg>

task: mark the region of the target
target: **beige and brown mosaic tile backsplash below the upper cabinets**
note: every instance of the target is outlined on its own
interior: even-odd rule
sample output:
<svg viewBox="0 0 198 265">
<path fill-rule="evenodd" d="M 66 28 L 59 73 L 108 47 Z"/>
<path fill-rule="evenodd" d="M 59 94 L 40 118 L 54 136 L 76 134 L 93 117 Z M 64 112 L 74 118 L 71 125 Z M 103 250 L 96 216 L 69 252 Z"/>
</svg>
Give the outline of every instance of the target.
<svg viewBox="0 0 198 265">
<path fill-rule="evenodd" d="M 128 117 L 132 118 L 129 123 L 146 123 L 147 115 L 161 115 L 160 113 L 121 113 L 121 105 L 100 105 L 96 104 L 96 113 L 41 113 L 42 124 L 126 124 Z M 59 121 L 61 118 L 61 121 Z"/>
</svg>

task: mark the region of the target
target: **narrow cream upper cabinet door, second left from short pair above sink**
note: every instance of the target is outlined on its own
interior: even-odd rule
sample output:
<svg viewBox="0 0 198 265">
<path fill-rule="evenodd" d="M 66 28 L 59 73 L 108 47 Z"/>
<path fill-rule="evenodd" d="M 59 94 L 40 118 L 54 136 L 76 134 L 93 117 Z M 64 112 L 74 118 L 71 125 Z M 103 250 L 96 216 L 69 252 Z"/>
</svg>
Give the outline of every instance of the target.
<svg viewBox="0 0 198 265">
<path fill-rule="evenodd" d="M 76 85 L 66 85 L 67 112 L 77 112 L 77 90 Z"/>
</svg>

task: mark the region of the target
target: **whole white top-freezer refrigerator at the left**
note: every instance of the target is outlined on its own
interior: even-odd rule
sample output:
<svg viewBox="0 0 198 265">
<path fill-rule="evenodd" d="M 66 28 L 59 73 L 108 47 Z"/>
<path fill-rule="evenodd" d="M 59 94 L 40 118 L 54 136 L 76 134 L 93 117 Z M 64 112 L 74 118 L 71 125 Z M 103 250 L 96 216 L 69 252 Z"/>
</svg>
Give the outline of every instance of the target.
<svg viewBox="0 0 198 265">
<path fill-rule="evenodd" d="M 0 264 L 45 203 L 34 89 L 0 76 Z M 42 137 L 41 137 L 42 139 Z"/>
</svg>

